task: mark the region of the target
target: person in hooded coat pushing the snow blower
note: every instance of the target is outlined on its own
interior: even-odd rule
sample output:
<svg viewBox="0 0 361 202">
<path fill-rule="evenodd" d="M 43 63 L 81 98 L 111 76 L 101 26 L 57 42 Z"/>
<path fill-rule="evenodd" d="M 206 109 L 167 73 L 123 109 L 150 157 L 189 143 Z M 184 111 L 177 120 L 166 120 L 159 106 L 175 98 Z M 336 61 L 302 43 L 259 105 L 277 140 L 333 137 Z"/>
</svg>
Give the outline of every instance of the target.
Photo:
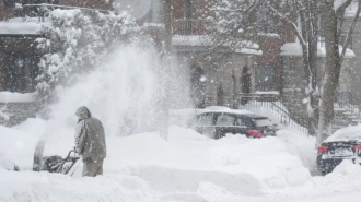
<svg viewBox="0 0 361 202">
<path fill-rule="evenodd" d="M 84 163 L 83 177 L 103 175 L 103 161 L 106 157 L 105 133 L 102 122 L 92 117 L 86 107 L 78 108 L 75 147 Z"/>
</svg>

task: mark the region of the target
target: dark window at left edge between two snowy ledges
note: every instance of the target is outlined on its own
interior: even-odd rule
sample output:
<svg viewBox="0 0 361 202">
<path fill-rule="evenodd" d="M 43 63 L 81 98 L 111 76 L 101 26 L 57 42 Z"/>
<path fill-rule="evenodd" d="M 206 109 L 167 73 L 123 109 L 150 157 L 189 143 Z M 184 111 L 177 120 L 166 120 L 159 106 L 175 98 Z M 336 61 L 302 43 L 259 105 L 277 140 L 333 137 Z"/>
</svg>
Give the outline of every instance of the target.
<svg viewBox="0 0 361 202">
<path fill-rule="evenodd" d="M 5 91 L 31 93 L 35 91 L 39 57 L 33 52 L 5 55 Z"/>
</svg>

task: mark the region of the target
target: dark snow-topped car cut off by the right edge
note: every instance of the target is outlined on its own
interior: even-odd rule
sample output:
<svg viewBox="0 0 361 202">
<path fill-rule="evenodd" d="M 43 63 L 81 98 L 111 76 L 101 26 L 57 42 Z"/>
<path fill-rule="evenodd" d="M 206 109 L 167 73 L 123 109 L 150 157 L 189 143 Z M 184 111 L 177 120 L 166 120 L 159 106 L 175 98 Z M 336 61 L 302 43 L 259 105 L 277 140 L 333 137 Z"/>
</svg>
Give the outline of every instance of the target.
<svg viewBox="0 0 361 202">
<path fill-rule="evenodd" d="M 343 159 L 360 164 L 361 126 L 339 129 L 326 139 L 318 147 L 317 169 L 323 174 L 330 173 Z"/>
</svg>

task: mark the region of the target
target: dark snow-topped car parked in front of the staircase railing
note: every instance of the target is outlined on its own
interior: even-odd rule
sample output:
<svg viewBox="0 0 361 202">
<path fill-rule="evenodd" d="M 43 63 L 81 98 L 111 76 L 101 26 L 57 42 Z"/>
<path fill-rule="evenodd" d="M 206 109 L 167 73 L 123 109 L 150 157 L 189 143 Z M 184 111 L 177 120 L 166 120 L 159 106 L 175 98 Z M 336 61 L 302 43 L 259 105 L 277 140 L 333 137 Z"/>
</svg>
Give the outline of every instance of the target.
<svg viewBox="0 0 361 202">
<path fill-rule="evenodd" d="M 268 117 L 252 114 L 247 110 L 210 110 L 196 116 L 190 127 L 201 134 L 214 139 L 226 133 L 244 134 L 248 138 L 276 136 L 276 129 Z"/>
</svg>

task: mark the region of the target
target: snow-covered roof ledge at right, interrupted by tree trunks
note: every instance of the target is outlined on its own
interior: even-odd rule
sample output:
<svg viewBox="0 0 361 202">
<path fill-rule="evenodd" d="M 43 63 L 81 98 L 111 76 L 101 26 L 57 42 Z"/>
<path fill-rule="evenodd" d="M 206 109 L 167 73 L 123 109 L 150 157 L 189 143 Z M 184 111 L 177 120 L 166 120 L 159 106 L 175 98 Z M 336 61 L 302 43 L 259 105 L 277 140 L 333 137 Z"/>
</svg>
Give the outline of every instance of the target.
<svg viewBox="0 0 361 202">
<path fill-rule="evenodd" d="M 339 47 L 339 52 L 342 51 L 342 46 Z M 281 47 L 281 56 L 302 56 L 302 47 L 299 43 L 287 43 Z M 326 48 L 325 46 L 317 46 L 317 57 L 326 57 Z M 353 50 L 347 48 L 345 58 L 353 58 L 356 57 Z"/>
</svg>

